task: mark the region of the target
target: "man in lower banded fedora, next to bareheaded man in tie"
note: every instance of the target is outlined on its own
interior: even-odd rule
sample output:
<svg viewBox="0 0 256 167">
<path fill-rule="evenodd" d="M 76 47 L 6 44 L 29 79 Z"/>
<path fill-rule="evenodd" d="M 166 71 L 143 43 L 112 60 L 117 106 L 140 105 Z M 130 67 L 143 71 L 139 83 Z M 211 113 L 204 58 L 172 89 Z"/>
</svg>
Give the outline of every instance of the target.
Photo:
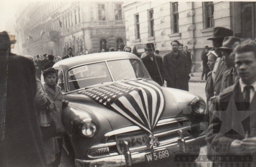
<svg viewBox="0 0 256 167">
<path fill-rule="evenodd" d="M 239 76 L 235 69 L 235 53 L 232 53 L 232 51 L 234 50 L 235 46 L 240 44 L 241 42 L 243 42 L 243 39 L 241 38 L 233 36 L 225 37 L 222 46 L 217 49 L 222 52 L 225 64 L 229 68 L 223 73 L 220 92 L 236 83 L 239 79 Z"/>
</svg>

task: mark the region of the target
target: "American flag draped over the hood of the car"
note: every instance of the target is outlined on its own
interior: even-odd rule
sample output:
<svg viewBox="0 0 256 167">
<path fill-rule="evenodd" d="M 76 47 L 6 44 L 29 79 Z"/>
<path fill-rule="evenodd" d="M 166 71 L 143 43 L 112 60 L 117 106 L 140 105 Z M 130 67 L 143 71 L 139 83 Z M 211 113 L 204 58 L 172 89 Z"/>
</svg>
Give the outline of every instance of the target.
<svg viewBox="0 0 256 167">
<path fill-rule="evenodd" d="M 146 80 L 112 83 L 79 93 L 128 118 L 150 134 L 165 107 L 161 89 Z"/>
</svg>

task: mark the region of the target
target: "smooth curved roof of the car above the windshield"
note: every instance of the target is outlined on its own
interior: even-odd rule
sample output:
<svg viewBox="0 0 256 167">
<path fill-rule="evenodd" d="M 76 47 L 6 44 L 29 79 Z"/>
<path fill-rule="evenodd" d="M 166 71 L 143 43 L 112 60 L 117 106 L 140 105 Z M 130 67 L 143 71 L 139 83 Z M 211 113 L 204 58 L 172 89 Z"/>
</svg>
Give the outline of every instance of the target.
<svg viewBox="0 0 256 167">
<path fill-rule="evenodd" d="M 125 52 L 125 51 L 112 51 L 112 52 L 102 52 L 102 53 L 92 53 L 88 55 L 75 56 L 72 58 L 65 58 L 63 60 L 55 63 L 53 67 L 61 67 L 64 71 L 71 67 L 78 66 L 81 64 L 112 60 L 112 59 L 123 59 L 123 58 L 135 58 L 139 59 L 135 54 Z"/>
</svg>

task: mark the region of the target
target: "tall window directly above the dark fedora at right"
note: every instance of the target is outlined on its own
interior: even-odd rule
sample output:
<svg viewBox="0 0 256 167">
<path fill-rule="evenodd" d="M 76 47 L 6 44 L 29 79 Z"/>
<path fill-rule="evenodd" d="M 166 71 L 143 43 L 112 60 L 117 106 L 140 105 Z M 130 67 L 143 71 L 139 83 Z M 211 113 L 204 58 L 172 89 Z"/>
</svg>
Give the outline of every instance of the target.
<svg viewBox="0 0 256 167">
<path fill-rule="evenodd" d="M 214 5 L 213 2 L 204 2 L 205 28 L 214 27 Z"/>
</svg>

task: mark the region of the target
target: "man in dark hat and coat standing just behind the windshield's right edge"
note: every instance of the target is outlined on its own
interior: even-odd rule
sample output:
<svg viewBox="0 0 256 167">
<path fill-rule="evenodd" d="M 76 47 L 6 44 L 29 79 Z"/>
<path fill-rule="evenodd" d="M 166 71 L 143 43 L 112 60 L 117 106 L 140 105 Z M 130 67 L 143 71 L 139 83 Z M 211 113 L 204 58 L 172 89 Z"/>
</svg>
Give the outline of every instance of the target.
<svg viewBox="0 0 256 167">
<path fill-rule="evenodd" d="M 154 55 L 155 45 L 154 43 L 146 44 L 146 57 L 141 58 L 148 73 L 150 74 L 153 81 L 158 83 L 160 86 L 164 85 L 163 76 L 163 59 L 159 56 Z"/>
</svg>

